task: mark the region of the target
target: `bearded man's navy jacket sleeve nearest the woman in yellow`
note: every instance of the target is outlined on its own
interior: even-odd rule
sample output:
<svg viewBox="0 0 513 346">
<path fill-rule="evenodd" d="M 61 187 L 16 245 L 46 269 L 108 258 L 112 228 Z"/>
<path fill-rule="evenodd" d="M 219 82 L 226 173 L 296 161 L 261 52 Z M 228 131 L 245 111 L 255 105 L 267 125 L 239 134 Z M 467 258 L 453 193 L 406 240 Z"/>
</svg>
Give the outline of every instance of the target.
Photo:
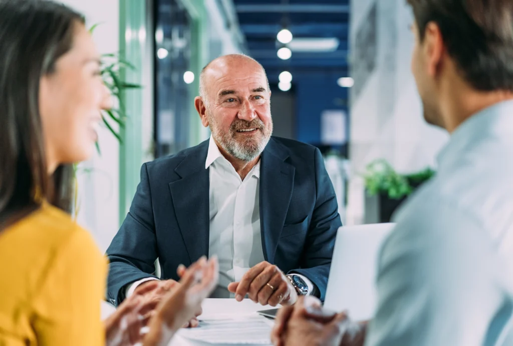
<svg viewBox="0 0 513 346">
<path fill-rule="evenodd" d="M 154 276 L 158 252 L 147 164 L 141 168 L 141 182 L 130 211 L 107 249 L 107 256 L 107 299 L 111 303 L 121 303 L 127 284 Z"/>
</svg>

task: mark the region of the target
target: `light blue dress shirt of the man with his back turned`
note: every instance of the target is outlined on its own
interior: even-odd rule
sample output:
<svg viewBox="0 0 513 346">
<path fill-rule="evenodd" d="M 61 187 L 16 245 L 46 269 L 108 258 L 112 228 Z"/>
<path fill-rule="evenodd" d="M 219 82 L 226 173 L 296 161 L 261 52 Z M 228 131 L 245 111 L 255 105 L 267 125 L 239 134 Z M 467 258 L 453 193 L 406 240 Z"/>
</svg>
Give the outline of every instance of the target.
<svg viewBox="0 0 513 346">
<path fill-rule="evenodd" d="M 513 101 L 471 116 L 395 215 L 366 346 L 513 344 Z"/>
</svg>

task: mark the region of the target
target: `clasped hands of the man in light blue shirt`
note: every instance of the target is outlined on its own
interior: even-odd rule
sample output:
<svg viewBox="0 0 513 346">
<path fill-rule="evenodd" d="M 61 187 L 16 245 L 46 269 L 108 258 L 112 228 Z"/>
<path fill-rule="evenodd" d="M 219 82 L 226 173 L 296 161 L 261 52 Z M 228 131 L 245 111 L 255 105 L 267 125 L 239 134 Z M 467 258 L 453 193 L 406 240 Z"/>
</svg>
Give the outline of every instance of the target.
<svg viewBox="0 0 513 346">
<path fill-rule="evenodd" d="M 279 311 L 271 340 L 274 346 L 340 346 L 349 323 L 345 313 L 326 314 L 319 299 L 301 297 Z"/>
</svg>

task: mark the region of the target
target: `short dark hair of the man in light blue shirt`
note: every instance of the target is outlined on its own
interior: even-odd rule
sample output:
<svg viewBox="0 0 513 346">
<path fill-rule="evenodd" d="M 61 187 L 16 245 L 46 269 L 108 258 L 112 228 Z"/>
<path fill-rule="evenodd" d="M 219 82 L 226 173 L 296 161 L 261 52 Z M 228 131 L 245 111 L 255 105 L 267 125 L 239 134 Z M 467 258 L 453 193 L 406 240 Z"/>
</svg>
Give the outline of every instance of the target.
<svg viewBox="0 0 513 346">
<path fill-rule="evenodd" d="M 512 0 L 407 0 L 424 39 L 438 24 L 462 76 L 480 91 L 513 91 Z"/>
</svg>

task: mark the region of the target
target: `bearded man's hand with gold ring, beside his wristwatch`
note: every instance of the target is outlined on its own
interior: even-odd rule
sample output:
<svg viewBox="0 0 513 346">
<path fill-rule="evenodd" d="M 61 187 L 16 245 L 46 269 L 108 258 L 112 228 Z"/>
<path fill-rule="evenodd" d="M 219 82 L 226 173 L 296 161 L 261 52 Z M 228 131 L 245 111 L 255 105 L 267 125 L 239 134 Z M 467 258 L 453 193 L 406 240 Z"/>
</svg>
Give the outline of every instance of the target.
<svg viewBox="0 0 513 346">
<path fill-rule="evenodd" d="M 269 262 L 260 262 L 242 277 L 240 282 L 228 285 L 228 291 L 235 293 L 235 299 L 249 299 L 262 305 L 275 307 L 278 304 L 292 305 L 298 300 L 298 293 L 285 274 Z"/>
</svg>

